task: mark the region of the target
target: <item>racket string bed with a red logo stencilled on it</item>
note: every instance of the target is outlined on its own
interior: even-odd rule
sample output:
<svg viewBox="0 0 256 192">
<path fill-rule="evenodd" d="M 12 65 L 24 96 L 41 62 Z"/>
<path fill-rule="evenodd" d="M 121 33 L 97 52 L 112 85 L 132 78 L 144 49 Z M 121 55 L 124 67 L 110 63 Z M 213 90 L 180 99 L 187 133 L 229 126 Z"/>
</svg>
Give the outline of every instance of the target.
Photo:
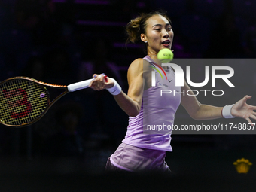
<svg viewBox="0 0 256 192">
<path fill-rule="evenodd" d="M 0 119 L 4 124 L 30 123 L 48 104 L 47 90 L 33 81 L 15 79 L 0 86 Z"/>
</svg>

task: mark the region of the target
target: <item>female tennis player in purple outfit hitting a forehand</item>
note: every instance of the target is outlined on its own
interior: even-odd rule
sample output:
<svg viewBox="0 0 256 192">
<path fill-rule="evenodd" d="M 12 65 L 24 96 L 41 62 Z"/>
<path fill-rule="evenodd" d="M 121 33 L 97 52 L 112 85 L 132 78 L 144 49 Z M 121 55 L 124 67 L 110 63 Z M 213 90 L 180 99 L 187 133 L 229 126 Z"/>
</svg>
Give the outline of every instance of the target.
<svg viewBox="0 0 256 192">
<path fill-rule="evenodd" d="M 165 90 L 184 91 L 184 93 L 190 90 L 186 83 L 184 87 L 175 87 L 175 72 L 172 68 L 164 69 L 167 79 L 172 79 L 172 81 L 167 82 L 156 72 L 156 86 L 151 87 L 152 68 L 148 66 L 155 67 L 157 53 L 161 49 L 171 49 L 172 47 L 173 31 L 166 14 L 157 11 L 141 14 L 128 23 L 126 32 L 129 35 L 128 41 L 133 43 L 143 41 L 148 52 L 145 58 L 134 60 L 128 69 L 128 93 L 123 93 L 114 79 L 108 78 L 108 81 L 105 81 L 104 75 L 93 75 L 95 80 L 90 83 L 93 90 L 107 89 L 114 95 L 120 108 L 130 116 L 126 136 L 114 154 L 108 158 L 107 170 L 169 172 L 165 157 L 166 151 L 172 151 L 170 145 L 172 131 L 145 133 L 145 128 L 143 128 L 145 122 L 143 121 L 172 125 L 175 112 L 180 104 L 195 120 L 242 117 L 251 123 L 250 118 L 256 119 L 256 113 L 253 111 L 256 107 L 246 103 L 251 96 L 245 96 L 236 104 L 225 107 L 203 105 L 196 96 L 187 96 L 186 94 L 175 94 L 175 96 L 163 94 L 160 96 L 160 90 L 163 87 Z M 148 111 L 148 106 L 151 108 L 150 111 Z"/>
</svg>

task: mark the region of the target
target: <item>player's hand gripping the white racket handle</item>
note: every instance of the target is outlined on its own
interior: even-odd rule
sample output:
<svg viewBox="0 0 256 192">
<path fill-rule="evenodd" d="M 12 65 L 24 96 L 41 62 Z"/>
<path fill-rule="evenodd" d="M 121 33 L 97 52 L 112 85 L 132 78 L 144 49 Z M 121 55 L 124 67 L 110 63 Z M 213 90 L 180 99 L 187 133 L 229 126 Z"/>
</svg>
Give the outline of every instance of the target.
<svg viewBox="0 0 256 192">
<path fill-rule="evenodd" d="M 104 90 L 114 86 L 114 81 L 104 74 L 93 74 L 93 78 L 93 81 L 89 84 L 89 87 L 93 90 Z"/>
</svg>

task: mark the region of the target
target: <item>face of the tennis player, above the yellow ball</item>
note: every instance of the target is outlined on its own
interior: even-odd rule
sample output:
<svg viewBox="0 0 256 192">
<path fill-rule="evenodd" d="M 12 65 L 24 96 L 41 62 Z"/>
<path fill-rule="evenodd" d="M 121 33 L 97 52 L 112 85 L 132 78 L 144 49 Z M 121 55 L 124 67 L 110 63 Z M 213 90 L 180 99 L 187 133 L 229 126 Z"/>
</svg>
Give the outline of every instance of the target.
<svg viewBox="0 0 256 192">
<path fill-rule="evenodd" d="M 166 17 L 154 15 L 147 20 L 144 38 L 148 41 L 148 51 L 151 53 L 157 54 L 163 48 L 171 49 L 173 35 L 172 26 Z"/>
</svg>

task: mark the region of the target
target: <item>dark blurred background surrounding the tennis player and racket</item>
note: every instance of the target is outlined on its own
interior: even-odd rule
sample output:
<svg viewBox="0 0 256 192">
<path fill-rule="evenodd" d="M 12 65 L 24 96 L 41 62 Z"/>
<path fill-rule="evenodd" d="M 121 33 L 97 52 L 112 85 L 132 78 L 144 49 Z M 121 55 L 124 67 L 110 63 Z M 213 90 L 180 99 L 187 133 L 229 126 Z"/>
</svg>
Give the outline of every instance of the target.
<svg viewBox="0 0 256 192">
<path fill-rule="evenodd" d="M 51 84 L 71 84 L 104 72 L 126 93 L 128 66 L 145 56 L 142 44 L 125 44 L 126 23 L 157 8 L 166 10 L 172 20 L 172 49 L 177 59 L 256 56 L 255 0 L 1 0 L 0 81 L 22 75 Z M 200 102 L 223 106 L 245 94 L 256 97 L 256 66 L 230 66 L 235 69 L 234 76 L 238 75 L 232 81 L 236 88 L 221 99 L 198 96 Z M 204 72 L 204 66 L 193 70 L 192 80 L 203 81 L 204 76 L 197 74 Z M 218 86 L 216 89 L 227 90 L 227 84 Z M 249 103 L 256 105 L 254 99 Z M 88 191 L 107 185 L 113 190 L 113 180 L 120 178 L 107 177 L 105 163 L 124 138 L 127 122 L 128 117 L 108 91 L 87 89 L 60 99 L 32 126 L 19 129 L 0 125 L 2 187 L 18 189 L 18 184 L 23 184 L 24 189 L 30 186 L 44 191 L 45 185 L 58 189 L 70 184 L 63 190 L 77 191 L 89 184 Z M 216 122 L 246 123 L 241 119 L 200 123 Z M 175 123 L 197 122 L 181 106 Z M 206 183 L 201 187 L 207 187 L 207 181 L 220 181 L 217 186 L 225 191 L 231 191 L 234 183 L 240 186 L 236 190 L 252 188 L 255 139 L 255 135 L 174 134 L 173 152 L 166 156 L 172 179 L 158 178 L 155 183 L 168 181 L 166 189 L 179 189 L 183 183 L 197 188 L 195 183 L 203 180 Z M 253 163 L 247 174 L 238 174 L 233 166 L 242 157 Z M 51 179 L 57 179 L 56 183 Z M 120 185 L 125 181 L 129 180 L 118 180 Z M 216 191 L 214 186 L 204 191 Z"/>
</svg>

